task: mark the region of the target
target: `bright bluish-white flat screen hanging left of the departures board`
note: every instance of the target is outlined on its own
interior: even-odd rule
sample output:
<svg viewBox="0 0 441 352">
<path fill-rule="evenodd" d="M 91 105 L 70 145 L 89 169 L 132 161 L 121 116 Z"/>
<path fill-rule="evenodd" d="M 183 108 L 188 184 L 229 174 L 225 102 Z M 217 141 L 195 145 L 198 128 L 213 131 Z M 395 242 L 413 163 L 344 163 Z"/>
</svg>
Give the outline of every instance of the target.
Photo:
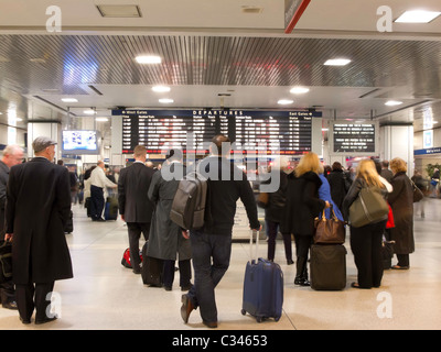
<svg viewBox="0 0 441 352">
<path fill-rule="evenodd" d="M 98 154 L 98 132 L 63 131 L 63 153 Z"/>
</svg>

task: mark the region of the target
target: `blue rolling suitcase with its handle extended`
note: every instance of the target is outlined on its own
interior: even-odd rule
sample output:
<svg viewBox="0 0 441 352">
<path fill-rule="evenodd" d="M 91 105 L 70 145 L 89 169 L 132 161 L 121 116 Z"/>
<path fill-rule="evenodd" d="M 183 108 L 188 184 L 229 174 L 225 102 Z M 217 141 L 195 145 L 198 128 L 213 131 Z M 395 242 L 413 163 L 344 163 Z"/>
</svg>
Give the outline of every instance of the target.
<svg viewBox="0 0 441 352">
<path fill-rule="evenodd" d="M 256 239 L 256 257 L 259 245 L 259 233 Z M 252 233 L 250 239 L 252 246 Z M 266 318 L 279 321 L 283 305 L 283 272 L 276 263 L 263 258 L 247 263 L 244 278 L 244 300 L 241 314 L 254 316 L 257 322 Z"/>
</svg>

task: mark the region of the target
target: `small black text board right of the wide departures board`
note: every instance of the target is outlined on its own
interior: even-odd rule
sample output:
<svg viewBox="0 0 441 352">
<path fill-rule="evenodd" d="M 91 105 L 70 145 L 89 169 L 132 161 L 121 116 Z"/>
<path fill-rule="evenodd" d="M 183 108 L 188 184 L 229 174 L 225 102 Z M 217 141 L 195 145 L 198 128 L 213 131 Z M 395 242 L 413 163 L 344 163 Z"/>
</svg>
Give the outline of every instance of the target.
<svg viewBox="0 0 441 352">
<path fill-rule="evenodd" d="M 375 123 L 334 123 L 334 153 L 375 153 Z"/>
</svg>

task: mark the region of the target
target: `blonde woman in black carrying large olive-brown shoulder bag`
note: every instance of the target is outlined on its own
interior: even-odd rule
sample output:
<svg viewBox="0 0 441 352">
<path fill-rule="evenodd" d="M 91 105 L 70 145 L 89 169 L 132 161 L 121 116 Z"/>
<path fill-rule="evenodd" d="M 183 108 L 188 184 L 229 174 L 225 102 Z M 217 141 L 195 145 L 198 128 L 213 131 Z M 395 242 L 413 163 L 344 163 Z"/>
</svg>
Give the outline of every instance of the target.
<svg viewBox="0 0 441 352">
<path fill-rule="evenodd" d="M 362 188 L 377 187 L 386 198 L 387 188 L 381 182 L 375 163 L 372 160 L 363 160 L 358 164 L 356 178 L 343 200 L 343 218 L 351 223 L 349 208 L 358 198 Z M 386 229 L 387 215 L 377 222 L 370 222 L 364 227 L 351 226 L 351 250 L 357 267 L 357 282 L 352 283 L 355 288 L 379 287 L 383 278 L 381 241 Z"/>
</svg>

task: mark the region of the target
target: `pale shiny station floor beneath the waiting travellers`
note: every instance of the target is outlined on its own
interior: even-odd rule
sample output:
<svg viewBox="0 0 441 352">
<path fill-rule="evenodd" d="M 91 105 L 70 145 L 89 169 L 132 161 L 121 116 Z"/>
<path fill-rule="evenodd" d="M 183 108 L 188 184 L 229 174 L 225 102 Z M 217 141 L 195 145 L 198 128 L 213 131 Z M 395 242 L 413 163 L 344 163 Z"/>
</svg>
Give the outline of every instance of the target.
<svg viewBox="0 0 441 352">
<path fill-rule="evenodd" d="M 198 311 L 192 314 L 187 324 L 182 322 L 178 280 L 172 292 L 150 288 L 142 285 L 139 275 L 121 266 L 121 255 L 128 246 L 121 220 L 92 222 L 79 206 L 74 206 L 74 233 L 67 239 L 75 278 L 55 284 L 61 318 L 43 326 L 23 326 L 17 311 L 0 308 L 0 330 L 205 328 Z M 249 244 L 234 243 L 230 267 L 216 289 L 218 330 L 440 329 L 440 228 L 441 200 L 428 199 L 426 218 L 416 217 L 415 221 L 417 250 L 410 256 L 411 270 L 385 272 L 383 286 L 370 290 L 349 287 L 356 271 L 348 241 L 347 287 L 343 292 L 294 286 L 294 265 L 284 264 L 283 246 L 278 242 L 276 262 L 284 273 L 283 316 L 279 322 L 270 319 L 257 323 L 240 314 Z M 260 256 L 266 256 L 266 250 L 263 242 Z"/>
</svg>

